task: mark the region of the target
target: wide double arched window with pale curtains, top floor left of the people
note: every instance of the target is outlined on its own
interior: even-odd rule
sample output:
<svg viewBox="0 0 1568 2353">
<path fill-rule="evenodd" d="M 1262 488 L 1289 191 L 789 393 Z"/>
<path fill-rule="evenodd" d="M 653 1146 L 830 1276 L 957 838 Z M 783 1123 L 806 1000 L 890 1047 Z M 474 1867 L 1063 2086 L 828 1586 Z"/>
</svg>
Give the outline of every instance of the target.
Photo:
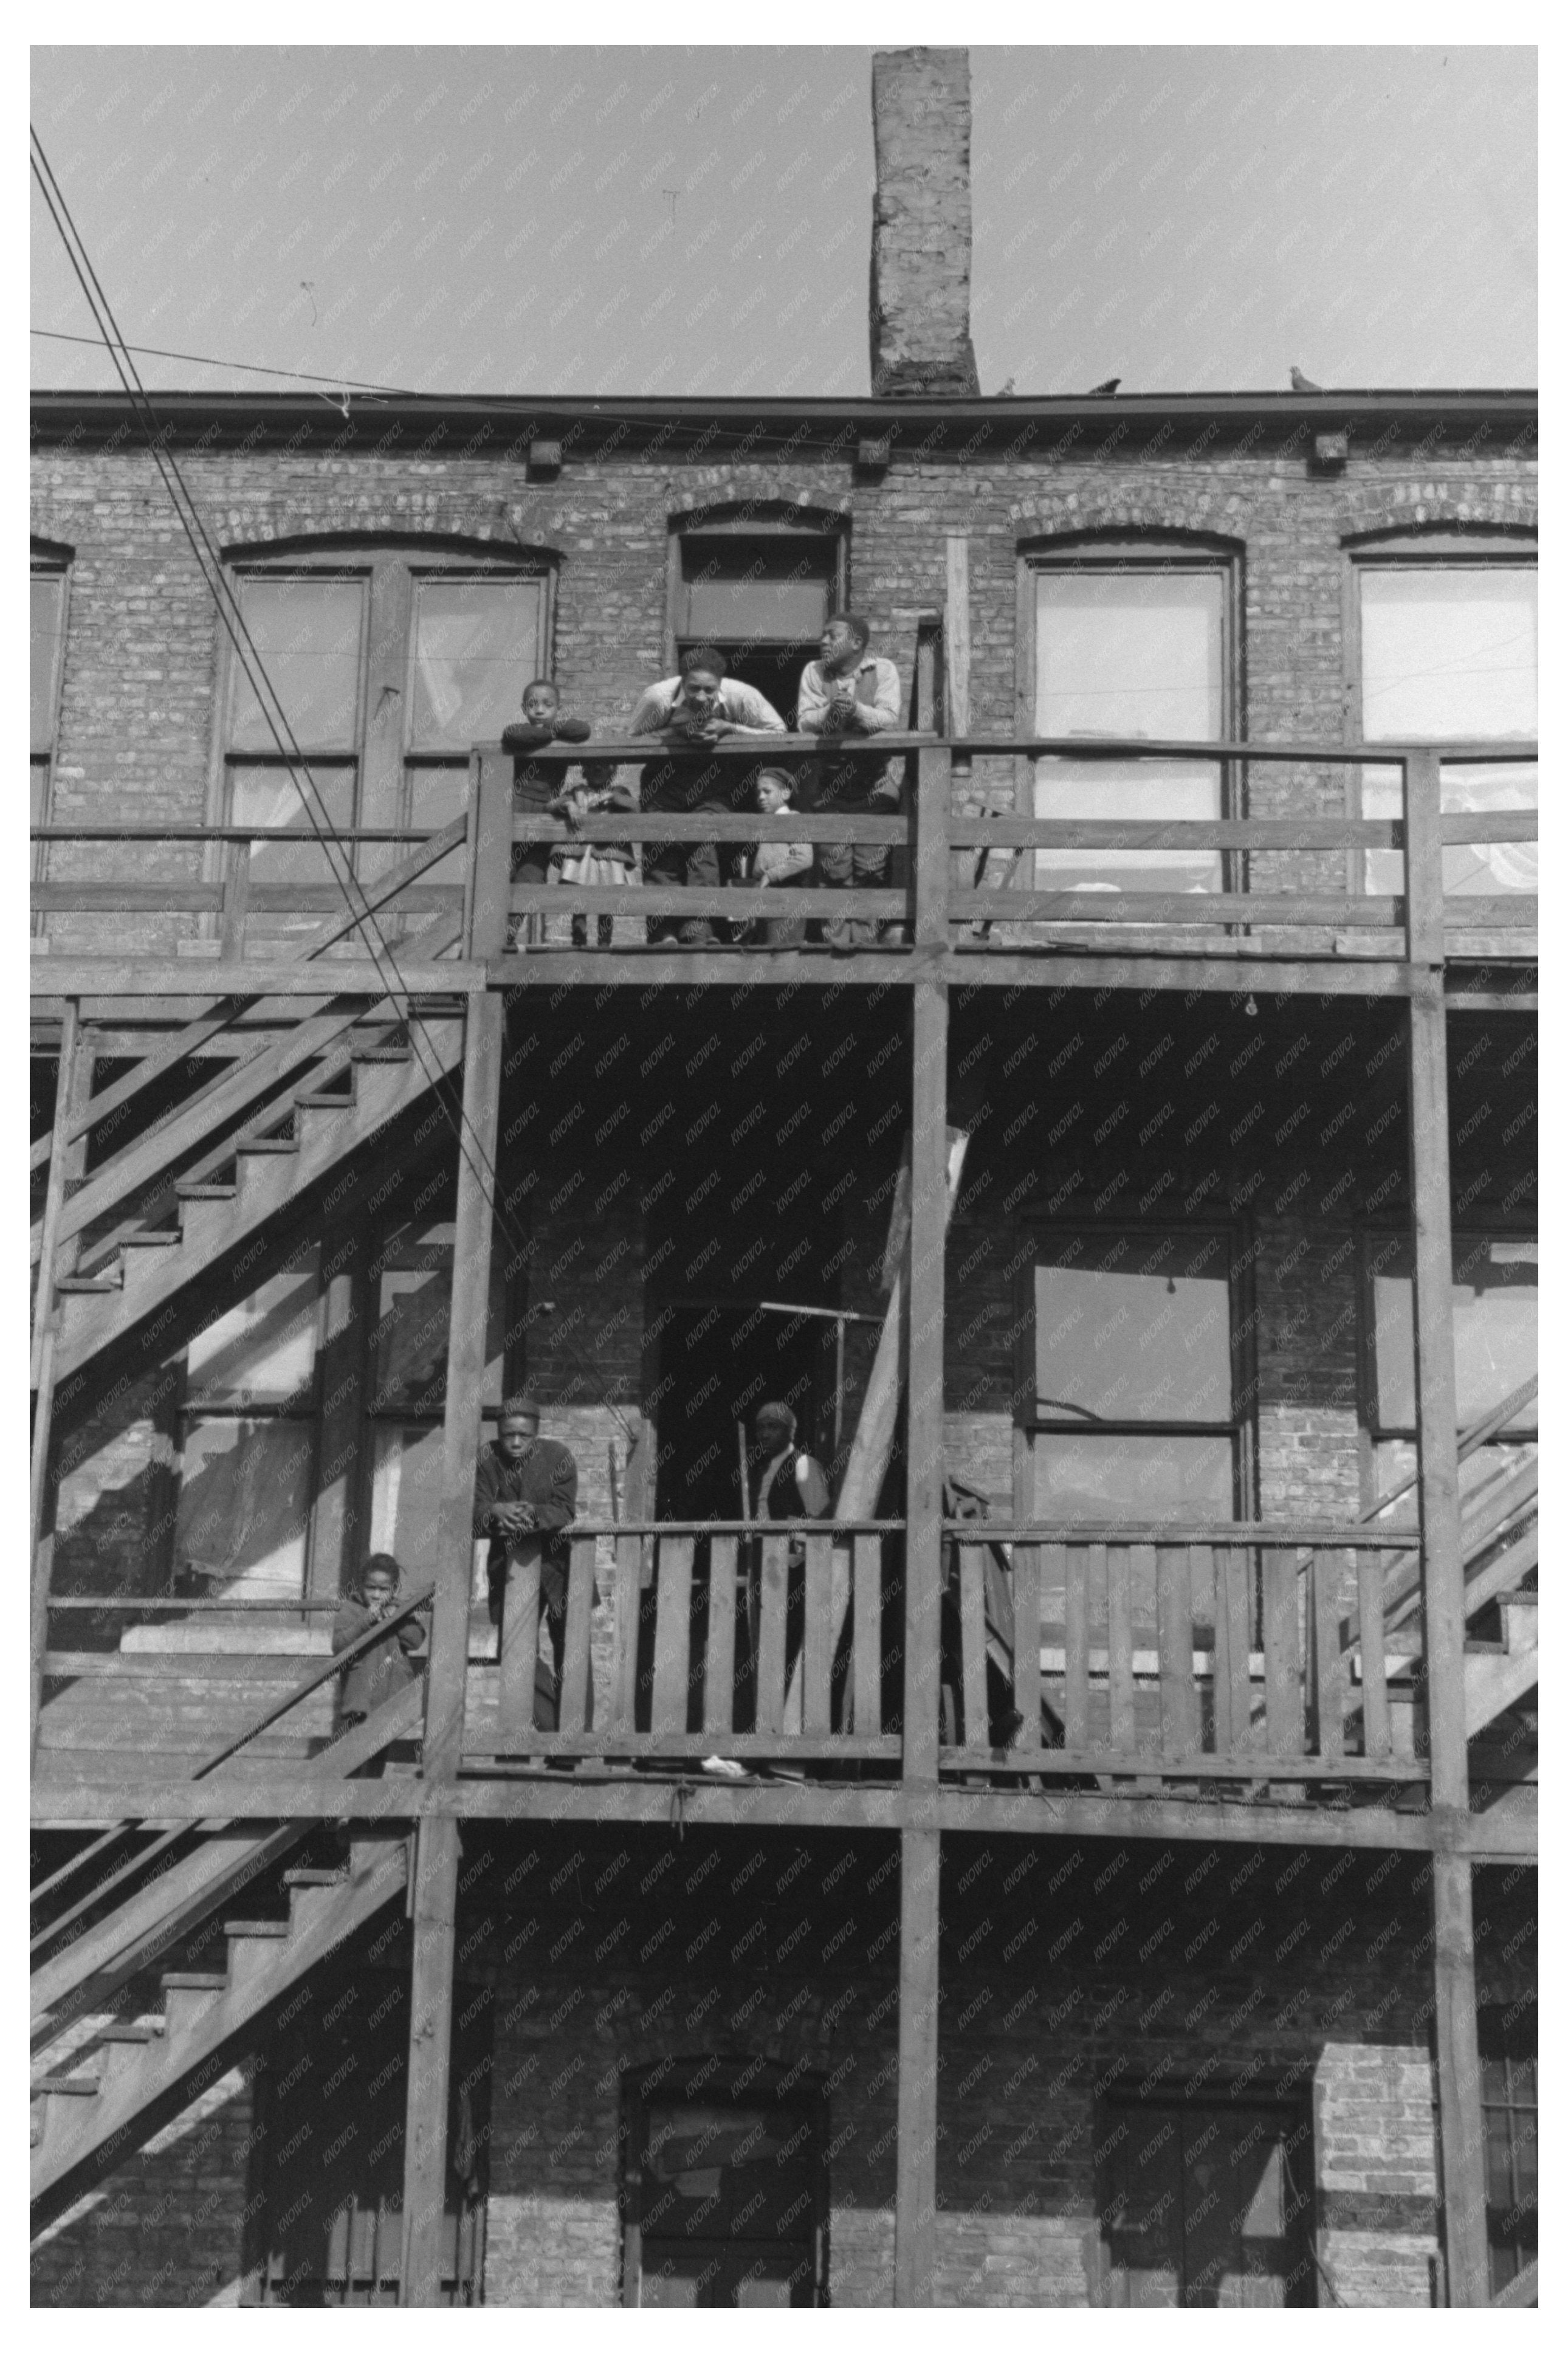
<svg viewBox="0 0 1568 2353">
<path fill-rule="evenodd" d="M 469 793 L 469 751 L 518 715 L 549 659 L 544 558 L 407 539 L 297 541 L 233 555 L 245 628 L 332 826 L 445 826 Z M 254 656 L 252 656 L 254 661 Z M 287 746 L 287 734 L 285 734 Z M 238 654 L 224 680 L 221 824 L 308 828 L 311 814 Z M 360 845 L 363 878 L 398 856 Z M 259 849 L 259 882 L 327 882 L 313 842 Z M 433 871 L 431 880 L 452 880 Z M 315 918 L 264 918 L 252 932 Z"/>
</svg>

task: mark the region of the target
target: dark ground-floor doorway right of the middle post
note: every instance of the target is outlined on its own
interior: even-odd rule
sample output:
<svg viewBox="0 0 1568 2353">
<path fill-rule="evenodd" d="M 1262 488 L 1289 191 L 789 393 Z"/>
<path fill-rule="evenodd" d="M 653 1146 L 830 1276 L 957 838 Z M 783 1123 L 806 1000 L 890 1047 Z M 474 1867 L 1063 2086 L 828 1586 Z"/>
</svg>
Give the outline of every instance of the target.
<svg viewBox="0 0 1568 2353">
<path fill-rule="evenodd" d="M 1107 2304 L 1316 2304 L 1304 2106 L 1116 2101 L 1099 2146 Z"/>
</svg>

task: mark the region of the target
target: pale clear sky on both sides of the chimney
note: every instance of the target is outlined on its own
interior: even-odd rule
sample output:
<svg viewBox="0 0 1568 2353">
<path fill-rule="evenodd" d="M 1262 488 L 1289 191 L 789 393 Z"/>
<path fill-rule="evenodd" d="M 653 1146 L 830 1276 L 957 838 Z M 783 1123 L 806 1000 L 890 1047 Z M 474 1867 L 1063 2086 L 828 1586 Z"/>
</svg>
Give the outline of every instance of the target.
<svg viewBox="0 0 1568 2353">
<path fill-rule="evenodd" d="M 1533 386 L 1528 47 L 975 47 L 984 393 Z M 871 49 L 33 49 L 151 388 L 869 391 Z M 92 336 L 33 188 L 31 325 Z M 106 386 L 33 336 L 35 386 Z"/>
</svg>

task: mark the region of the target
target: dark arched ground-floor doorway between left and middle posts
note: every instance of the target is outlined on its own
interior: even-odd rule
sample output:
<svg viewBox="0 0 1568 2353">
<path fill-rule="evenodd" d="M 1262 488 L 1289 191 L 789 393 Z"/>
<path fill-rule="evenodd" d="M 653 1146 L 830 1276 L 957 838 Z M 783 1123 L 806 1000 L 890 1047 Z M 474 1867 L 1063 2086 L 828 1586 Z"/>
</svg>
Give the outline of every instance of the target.
<svg viewBox="0 0 1568 2353">
<path fill-rule="evenodd" d="M 624 2301 L 824 2306 L 822 2094 L 800 2082 L 784 2094 L 756 2061 L 692 2059 L 662 2078 L 626 2092 Z"/>
</svg>

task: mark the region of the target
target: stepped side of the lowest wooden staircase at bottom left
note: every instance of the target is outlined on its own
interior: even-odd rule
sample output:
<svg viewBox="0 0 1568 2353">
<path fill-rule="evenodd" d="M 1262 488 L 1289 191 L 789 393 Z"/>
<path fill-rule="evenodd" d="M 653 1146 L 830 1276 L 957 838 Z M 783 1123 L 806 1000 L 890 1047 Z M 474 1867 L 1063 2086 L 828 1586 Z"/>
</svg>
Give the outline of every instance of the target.
<svg viewBox="0 0 1568 2353">
<path fill-rule="evenodd" d="M 101 2028 L 94 2071 L 73 2061 L 71 2073 L 35 2082 L 33 2097 L 42 2101 L 31 2158 L 35 2228 L 167 2122 L 198 2073 L 219 2073 L 290 1986 L 405 1892 L 407 1840 L 356 1833 L 341 1868 L 294 1868 L 283 1882 L 287 1920 L 224 1920 L 221 1969 L 165 1972 L 158 2021 Z"/>
</svg>

